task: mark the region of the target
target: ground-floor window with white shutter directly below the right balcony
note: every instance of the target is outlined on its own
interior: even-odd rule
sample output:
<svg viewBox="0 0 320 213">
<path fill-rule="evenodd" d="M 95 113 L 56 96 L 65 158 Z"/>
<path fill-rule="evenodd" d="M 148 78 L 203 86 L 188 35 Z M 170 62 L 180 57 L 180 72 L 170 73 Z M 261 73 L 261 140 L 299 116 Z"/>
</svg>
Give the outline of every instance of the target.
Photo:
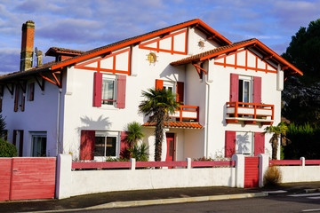
<svg viewBox="0 0 320 213">
<path fill-rule="evenodd" d="M 253 154 L 253 133 L 236 132 L 236 154 Z"/>
</svg>

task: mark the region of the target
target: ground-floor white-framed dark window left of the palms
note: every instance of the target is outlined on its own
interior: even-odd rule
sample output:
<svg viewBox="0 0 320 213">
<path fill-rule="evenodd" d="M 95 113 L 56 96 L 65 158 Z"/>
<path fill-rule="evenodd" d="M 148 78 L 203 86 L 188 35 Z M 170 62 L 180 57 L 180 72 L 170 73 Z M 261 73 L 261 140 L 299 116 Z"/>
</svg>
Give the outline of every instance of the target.
<svg viewBox="0 0 320 213">
<path fill-rule="evenodd" d="M 94 143 L 94 157 L 118 156 L 119 133 L 116 131 L 96 131 Z"/>
</svg>

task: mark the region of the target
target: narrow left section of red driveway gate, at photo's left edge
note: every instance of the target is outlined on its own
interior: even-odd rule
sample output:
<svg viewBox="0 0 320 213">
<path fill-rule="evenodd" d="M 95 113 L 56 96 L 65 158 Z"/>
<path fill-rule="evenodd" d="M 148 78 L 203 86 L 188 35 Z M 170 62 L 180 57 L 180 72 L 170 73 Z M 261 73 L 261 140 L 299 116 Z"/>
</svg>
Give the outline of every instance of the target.
<svg viewBox="0 0 320 213">
<path fill-rule="evenodd" d="M 12 158 L 0 158 L 0 201 L 9 200 Z"/>
</svg>

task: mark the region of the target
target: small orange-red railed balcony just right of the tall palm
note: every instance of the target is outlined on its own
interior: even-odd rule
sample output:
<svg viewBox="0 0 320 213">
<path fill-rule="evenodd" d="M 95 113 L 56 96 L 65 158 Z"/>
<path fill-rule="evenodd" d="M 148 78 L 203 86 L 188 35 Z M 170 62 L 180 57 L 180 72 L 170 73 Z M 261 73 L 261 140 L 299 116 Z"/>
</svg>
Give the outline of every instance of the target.
<svg viewBox="0 0 320 213">
<path fill-rule="evenodd" d="M 174 114 L 170 114 L 170 118 L 176 122 L 199 122 L 199 106 L 180 105 Z"/>
</svg>

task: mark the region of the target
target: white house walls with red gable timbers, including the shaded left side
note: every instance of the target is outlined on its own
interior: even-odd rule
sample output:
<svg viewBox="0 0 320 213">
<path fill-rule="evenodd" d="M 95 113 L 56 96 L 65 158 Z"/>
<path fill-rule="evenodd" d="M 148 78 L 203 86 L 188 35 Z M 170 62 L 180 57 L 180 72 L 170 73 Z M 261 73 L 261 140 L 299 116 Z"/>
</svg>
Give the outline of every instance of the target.
<svg viewBox="0 0 320 213">
<path fill-rule="evenodd" d="M 34 100 L 28 101 L 26 99 L 24 112 L 13 111 L 14 94 L 11 95 L 4 87 L 2 114 L 6 117 L 5 122 L 9 130 L 8 140 L 13 141 L 13 130 L 23 130 L 23 156 L 32 156 L 33 146 L 35 146 L 33 144 L 36 143 L 33 142 L 32 135 L 45 133 L 46 150 L 44 155 L 56 156 L 59 153 L 71 153 L 74 159 L 79 159 L 82 131 L 94 130 L 95 137 L 99 135 L 106 138 L 107 146 L 115 146 L 112 143 L 116 143 L 115 157 L 119 157 L 122 143 L 121 134 L 125 131 L 127 123 L 148 122 L 148 117 L 138 113 L 138 106 L 143 100 L 141 91 L 155 88 L 157 79 L 163 81 L 164 84 L 172 84 L 174 90 L 178 82 L 183 83 L 183 105 L 199 107 L 198 121 L 192 121 L 192 123 L 200 124 L 203 127 L 200 129 L 168 127 L 166 129 L 167 133 L 174 134 L 173 160 L 181 161 L 187 157 L 200 158 L 204 156 L 228 157 L 225 156 L 227 131 L 235 131 L 240 136 L 249 132 L 249 135 L 253 137 L 255 132 L 263 132 L 267 124 L 280 122 L 281 91 L 284 79 L 281 67 L 285 64 L 263 59 L 264 55 L 250 46 L 245 46 L 245 50 L 250 50 L 249 53 L 245 53 L 246 51 L 242 51 L 244 46 L 239 44 L 236 49 L 230 47 L 229 52 L 221 50 L 220 54 L 214 53 L 216 55 L 212 58 L 210 57 L 211 53 L 206 53 L 208 59 L 197 57 L 196 62 L 202 63 L 202 68 L 207 72 L 207 75 L 203 72 L 202 78 L 198 75 L 196 67 L 192 65 L 194 62 L 192 60 L 172 66 L 171 63 L 174 61 L 214 50 L 222 44 L 232 45 L 220 35 L 216 35 L 220 39 L 215 39 L 214 36 L 208 39 L 211 37 L 212 29 L 197 28 L 194 26 L 195 21 L 203 23 L 201 20 L 193 20 L 189 25 L 184 24 L 180 28 L 177 26 L 164 28 L 162 29 L 164 33 L 160 36 L 156 33 L 147 34 L 147 36 L 140 36 L 140 41 L 131 43 L 130 40 L 124 40 L 124 44 L 106 46 L 101 51 L 75 57 L 75 62 L 73 59 L 69 60 L 70 64 L 68 61 L 57 62 L 56 70 L 62 75 L 61 87 L 45 81 L 44 91 L 41 91 L 40 86 L 35 83 Z M 150 53 L 153 53 L 152 57 L 156 56 L 155 63 L 148 60 Z M 223 56 L 227 56 L 226 59 Z M 278 56 L 276 55 L 276 57 Z M 219 63 L 225 64 L 220 65 Z M 200 64 L 198 65 L 200 66 Z M 233 65 L 233 67 L 228 65 Z M 254 68 L 247 69 L 245 67 Z M 265 71 L 259 69 L 265 69 Z M 39 72 L 52 73 L 52 70 L 54 70 L 53 66 L 51 69 Z M 28 73 L 28 71 L 25 72 Z M 116 92 L 121 90 L 116 88 L 116 81 L 119 79 L 119 75 L 126 75 L 124 107 L 117 107 L 116 101 L 111 105 L 92 105 L 93 99 L 95 99 L 95 73 L 102 73 L 102 77 L 114 81 L 113 95 L 116 101 L 120 99 L 120 97 L 116 97 Z M 274 106 L 272 119 L 266 116 L 252 118 L 253 115 L 240 115 L 237 122 L 228 122 L 227 112 L 232 110 L 227 108 L 231 92 L 231 74 L 238 75 L 239 79 L 244 77 L 247 81 L 251 81 L 249 86 L 251 91 L 248 93 L 251 98 L 248 103 L 253 101 L 253 78 L 260 77 L 261 103 Z M 5 77 L 3 80 L 0 78 L 4 85 L 8 83 Z M 49 78 L 54 82 L 52 75 Z M 14 74 L 12 79 L 18 82 L 18 77 L 14 78 Z M 23 79 L 28 83 L 34 82 L 34 78 L 28 74 L 24 75 Z M 237 92 L 239 93 L 239 91 Z M 230 120 L 235 119 L 231 118 Z M 249 124 L 248 121 L 252 123 Z M 143 138 L 143 142 L 148 143 L 149 158 L 153 160 L 154 127 L 146 126 L 144 131 L 146 137 Z M 269 138 L 268 135 L 264 138 L 265 147 L 262 153 L 271 154 Z M 17 144 L 17 138 L 15 140 Z M 253 152 L 254 138 L 250 141 L 249 155 L 256 155 Z M 111 144 L 108 145 L 108 143 Z M 59 149 L 57 149 L 58 146 Z M 236 147 L 239 146 L 239 144 L 236 145 Z M 163 161 L 167 160 L 166 150 L 167 143 L 164 138 Z M 101 160 L 96 156 L 94 159 Z"/>
</svg>

